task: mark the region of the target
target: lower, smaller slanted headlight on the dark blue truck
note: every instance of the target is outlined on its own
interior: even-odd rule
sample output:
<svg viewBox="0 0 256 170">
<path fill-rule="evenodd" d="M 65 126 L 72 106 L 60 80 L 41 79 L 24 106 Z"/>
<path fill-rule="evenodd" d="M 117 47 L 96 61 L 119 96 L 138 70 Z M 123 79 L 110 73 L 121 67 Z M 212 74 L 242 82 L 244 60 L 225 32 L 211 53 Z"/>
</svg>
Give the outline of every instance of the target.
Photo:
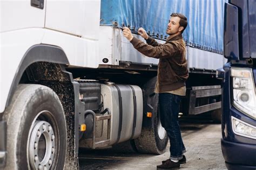
<svg viewBox="0 0 256 170">
<path fill-rule="evenodd" d="M 256 139 L 256 127 L 231 116 L 233 132 L 242 137 Z"/>
</svg>

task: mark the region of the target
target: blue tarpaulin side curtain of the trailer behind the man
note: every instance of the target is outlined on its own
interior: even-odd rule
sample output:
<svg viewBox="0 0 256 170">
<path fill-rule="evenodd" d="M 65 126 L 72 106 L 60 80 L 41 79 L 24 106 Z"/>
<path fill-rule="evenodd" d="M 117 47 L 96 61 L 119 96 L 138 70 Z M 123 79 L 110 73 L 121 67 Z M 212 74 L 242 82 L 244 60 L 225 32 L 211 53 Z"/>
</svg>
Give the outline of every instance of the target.
<svg viewBox="0 0 256 170">
<path fill-rule="evenodd" d="M 104 0 L 100 24 L 125 25 L 134 30 L 142 27 L 152 37 L 165 39 L 171 13 L 183 13 L 188 21 L 183 33 L 187 45 L 222 54 L 225 2 L 227 0 Z"/>
</svg>

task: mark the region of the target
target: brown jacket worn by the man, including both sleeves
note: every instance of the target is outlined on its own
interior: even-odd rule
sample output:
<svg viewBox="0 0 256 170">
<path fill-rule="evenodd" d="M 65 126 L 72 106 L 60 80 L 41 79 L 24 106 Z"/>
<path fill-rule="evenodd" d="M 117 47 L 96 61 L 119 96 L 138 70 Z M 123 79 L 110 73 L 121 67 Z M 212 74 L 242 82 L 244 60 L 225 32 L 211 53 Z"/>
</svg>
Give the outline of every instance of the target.
<svg viewBox="0 0 256 170">
<path fill-rule="evenodd" d="M 188 78 L 186 44 L 182 35 L 169 37 L 165 44 L 157 43 L 149 37 L 147 44 L 134 37 L 132 45 L 147 57 L 159 58 L 159 92 L 172 91 L 185 86 Z"/>
</svg>

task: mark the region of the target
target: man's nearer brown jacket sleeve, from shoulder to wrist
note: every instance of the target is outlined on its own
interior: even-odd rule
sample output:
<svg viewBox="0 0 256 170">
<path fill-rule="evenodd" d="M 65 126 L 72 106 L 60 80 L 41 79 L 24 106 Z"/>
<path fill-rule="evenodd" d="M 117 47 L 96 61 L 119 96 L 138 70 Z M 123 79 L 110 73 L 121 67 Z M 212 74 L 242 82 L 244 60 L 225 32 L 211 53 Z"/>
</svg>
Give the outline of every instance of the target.
<svg viewBox="0 0 256 170">
<path fill-rule="evenodd" d="M 133 37 L 131 43 L 134 48 L 140 53 L 143 53 L 143 55 L 152 58 L 170 58 L 179 51 L 176 43 L 167 43 L 161 46 L 152 46 L 142 42 L 136 37 Z"/>
</svg>

